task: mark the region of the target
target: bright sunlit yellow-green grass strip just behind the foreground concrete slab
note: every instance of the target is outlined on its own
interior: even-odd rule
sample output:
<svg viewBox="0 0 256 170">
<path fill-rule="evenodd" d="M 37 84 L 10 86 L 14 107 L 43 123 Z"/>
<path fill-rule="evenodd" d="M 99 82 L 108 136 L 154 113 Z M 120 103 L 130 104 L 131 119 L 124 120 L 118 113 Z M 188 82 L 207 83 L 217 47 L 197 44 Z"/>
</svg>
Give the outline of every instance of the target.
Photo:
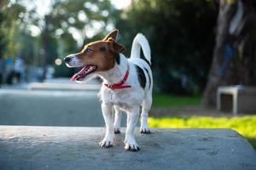
<svg viewBox="0 0 256 170">
<path fill-rule="evenodd" d="M 149 117 L 150 127 L 232 128 L 248 139 L 256 150 L 256 116 L 211 117 L 169 116 Z"/>
</svg>

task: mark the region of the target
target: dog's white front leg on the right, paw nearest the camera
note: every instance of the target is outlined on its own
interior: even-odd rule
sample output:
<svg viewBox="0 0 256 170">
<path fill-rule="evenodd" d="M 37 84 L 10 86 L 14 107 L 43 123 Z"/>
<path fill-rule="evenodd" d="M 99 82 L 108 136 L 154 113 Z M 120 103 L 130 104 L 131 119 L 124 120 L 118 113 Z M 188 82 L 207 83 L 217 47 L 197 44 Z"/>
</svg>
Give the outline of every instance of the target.
<svg viewBox="0 0 256 170">
<path fill-rule="evenodd" d="M 136 107 L 136 108 L 133 108 L 131 111 L 129 111 L 127 114 L 127 128 L 125 133 L 125 150 L 132 150 L 132 151 L 139 150 L 139 147 L 137 145 L 137 142 L 134 136 L 134 130 L 140 115 L 139 111 L 140 111 L 140 108 Z"/>
</svg>

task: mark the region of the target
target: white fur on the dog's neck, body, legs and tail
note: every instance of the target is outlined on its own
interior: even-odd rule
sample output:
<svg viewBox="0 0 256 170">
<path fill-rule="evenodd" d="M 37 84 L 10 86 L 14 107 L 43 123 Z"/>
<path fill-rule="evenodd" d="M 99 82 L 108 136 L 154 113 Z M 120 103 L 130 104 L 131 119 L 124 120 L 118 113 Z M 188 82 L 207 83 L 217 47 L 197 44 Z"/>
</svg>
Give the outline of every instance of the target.
<svg viewBox="0 0 256 170">
<path fill-rule="evenodd" d="M 123 54 L 119 54 L 120 63 L 115 63 L 109 71 L 98 71 L 92 74 L 102 77 L 102 84 L 113 84 L 120 82 L 125 77 L 125 71 L 130 68 L 130 74 L 125 84 L 131 85 L 131 88 L 110 89 L 102 85 L 99 93 L 102 100 L 102 115 L 106 123 L 106 134 L 100 145 L 102 147 L 110 147 L 113 145 L 114 132 L 120 130 L 122 111 L 127 113 L 127 128 L 125 133 L 125 150 L 138 150 L 134 131 L 137 121 L 141 114 L 141 131 L 149 132 L 148 129 L 148 111 L 152 104 L 152 88 L 153 77 L 150 66 L 147 62 L 140 58 L 140 50 L 143 48 L 143 54 L 150 63 L 150 48 L 148 40 L 143 34 L 137 34 L 134 38 L 131 48 L 131 58 L 126 59 Z M 75 57 L 75 55 L 73 55 Z M 75 57 L 76 58 L 76 57 Z M 75 63 L 79 65 L 79 61 L 74 59 Z M 73 61 L 72 61 L 73 63 Z M 141 67 L 146 77 L 146 87 L 142 88 L 138 81 L 136 65 Z M 69 65 L 76 66 L 76 65 Z M 148 70 L 148 73 L 145 71 Z M 151 85 L 149 87 L 149 77 Z M 86 78 L 86 77 L 85 77 Z M 86 78 L 87 79 L 87 78 Z M 142 113 L 140 108 L 142 107 Z M 113 114 L 115 115 L 113 116 Z"/>
</svg>

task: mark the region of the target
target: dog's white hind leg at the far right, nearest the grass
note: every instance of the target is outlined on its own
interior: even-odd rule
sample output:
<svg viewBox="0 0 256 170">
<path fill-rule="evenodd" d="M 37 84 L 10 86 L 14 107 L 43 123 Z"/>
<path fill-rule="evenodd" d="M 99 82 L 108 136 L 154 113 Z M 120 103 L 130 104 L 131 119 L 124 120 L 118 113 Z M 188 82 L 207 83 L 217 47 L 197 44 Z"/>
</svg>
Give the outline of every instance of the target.
<svg viewBox="0 0 256 170">
<path fill-rule="evenodd" d="M 141 133 L 150 133 L 148 128 L 148 111 L 152 105 L 152 95 L 148 94 L 147 98 L 143 101 L 143 108 L 141 114 Z"/>
</svg>

